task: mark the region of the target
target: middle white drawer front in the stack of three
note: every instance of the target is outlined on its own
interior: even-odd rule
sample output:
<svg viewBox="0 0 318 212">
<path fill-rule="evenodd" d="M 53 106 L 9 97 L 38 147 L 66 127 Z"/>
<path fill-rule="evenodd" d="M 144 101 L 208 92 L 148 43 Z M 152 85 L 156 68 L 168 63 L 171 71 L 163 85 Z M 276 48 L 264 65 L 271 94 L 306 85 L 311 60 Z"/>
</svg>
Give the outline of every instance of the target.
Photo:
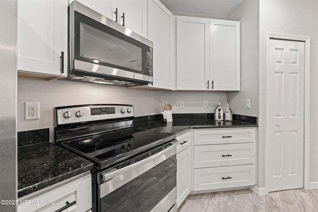
<svg viewBox="0 0 318 212">
<path fill-rule="evenodd" d="M 194 146 L 194 168 L 255 163 L 255 143 Z"/>
</svg>

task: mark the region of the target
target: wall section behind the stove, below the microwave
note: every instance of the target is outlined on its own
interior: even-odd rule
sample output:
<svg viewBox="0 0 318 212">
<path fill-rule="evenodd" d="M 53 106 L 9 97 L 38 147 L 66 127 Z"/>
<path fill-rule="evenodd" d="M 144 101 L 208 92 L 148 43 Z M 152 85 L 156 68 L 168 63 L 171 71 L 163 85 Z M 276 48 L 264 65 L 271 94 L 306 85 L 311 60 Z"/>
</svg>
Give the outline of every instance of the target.
<svg viewBox="0 0 318 212">
<path fill-rule="evenodd" d="M 40 102 L 39 120 L 24 120 L 24 102 L 27 101 Z M 162 105 L 160 91 L 64 80 L 18 79 L 17 131 L 50 128 L 50 138 L 53 138 L 54 107 L 98 103 L 132 104 L 136 117 L 158 114 Z"/>
</svg>

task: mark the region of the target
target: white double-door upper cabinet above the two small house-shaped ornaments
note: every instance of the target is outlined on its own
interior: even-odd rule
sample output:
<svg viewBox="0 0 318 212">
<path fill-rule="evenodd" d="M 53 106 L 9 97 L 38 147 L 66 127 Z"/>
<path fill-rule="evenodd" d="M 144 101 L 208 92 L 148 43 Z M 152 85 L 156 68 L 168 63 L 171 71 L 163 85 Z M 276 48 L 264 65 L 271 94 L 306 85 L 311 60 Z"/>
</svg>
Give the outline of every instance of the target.
<svg viewBox="0 0 318 212">
<path fill-rule="evenodd" d="M 239 90 L 239 22 L 177 17 L 177 89 Z"/>
</svg>

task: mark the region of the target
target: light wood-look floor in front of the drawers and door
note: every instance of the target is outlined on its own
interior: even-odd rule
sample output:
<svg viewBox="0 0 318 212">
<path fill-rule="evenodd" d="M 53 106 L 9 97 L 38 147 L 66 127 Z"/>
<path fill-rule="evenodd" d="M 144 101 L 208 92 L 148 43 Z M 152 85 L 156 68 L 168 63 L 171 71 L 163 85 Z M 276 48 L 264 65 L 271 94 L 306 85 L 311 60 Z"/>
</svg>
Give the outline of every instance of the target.
<svg viewBox="0 0 318 212">
<path fill-rule="evenodd" d="M 189 195 L 178 212 L 318 212 L 318 189 L 258 196 L 249 189 Z"/>
</svg>

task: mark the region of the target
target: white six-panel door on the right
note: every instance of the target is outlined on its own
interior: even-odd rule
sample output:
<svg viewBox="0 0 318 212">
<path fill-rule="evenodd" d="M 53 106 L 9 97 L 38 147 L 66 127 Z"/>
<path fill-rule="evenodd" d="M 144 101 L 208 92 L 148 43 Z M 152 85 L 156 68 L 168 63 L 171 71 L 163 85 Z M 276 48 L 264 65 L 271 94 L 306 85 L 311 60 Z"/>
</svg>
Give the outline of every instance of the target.
<svg viewBox="0 0 318 212">
<path fill-rule="evenodd" d="M 268 191 L 304 187 L 305 42 L 270 39 Z"/>
</svg>

